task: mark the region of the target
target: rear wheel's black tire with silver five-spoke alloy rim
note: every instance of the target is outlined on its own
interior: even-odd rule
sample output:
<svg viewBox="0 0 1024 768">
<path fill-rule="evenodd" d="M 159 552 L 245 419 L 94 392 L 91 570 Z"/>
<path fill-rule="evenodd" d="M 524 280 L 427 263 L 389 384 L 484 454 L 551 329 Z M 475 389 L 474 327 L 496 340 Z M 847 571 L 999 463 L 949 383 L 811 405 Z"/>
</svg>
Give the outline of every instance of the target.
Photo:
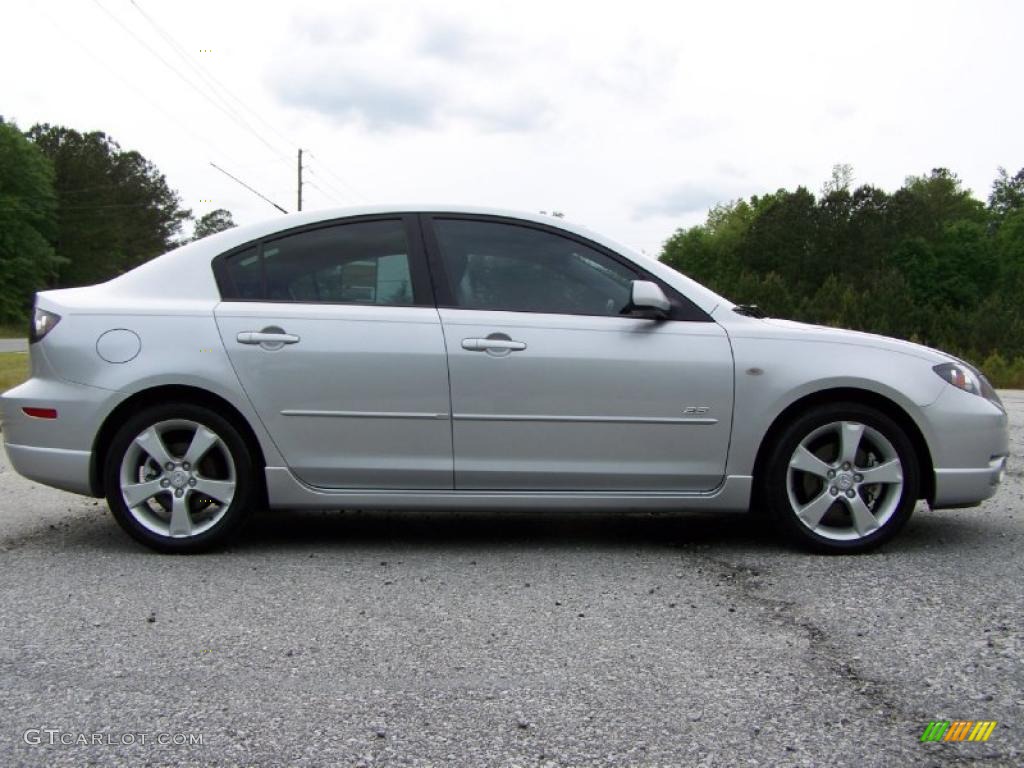
<svg viewBox="0 0 1024 768">
<path fill-rule="evenodd" d="M 166 467 L 159 467 L 153 456 L 139 447 L 141 443 L 136 442 L 136 436 L 155 425 L 161 425 L 166 439 L 162 439 L 160 445 L 175 461 L 187 458 L 184 449 L 190 444 L 187 438 L 190 427 L 184 426 L 186 423 L 203 427 L 218 438 L 218 442 L 212 444 L 196 467 L 188 465 L 194 474 L 185 471 L 170 472 Z M 197 428 L 196 434 L 198 431 Z M 181 469 L 181 466 L 175 464 L 175 468 Z M 134 476 L 135 472 L 138 472 L 137 478 Z M 254 463 L 246 440 L 229 421 L 204 406 L 168 402 L 134 414 L 118 429 L 106 452 L 103 487 L 114 519 L 129 536 L 158 552 L 190 554 L 221 546 L 245 520 L 260 498 L 258 472 L 259 468 Z M 177 520 L 187 519 L 187 527 L 183 529 L 178 522 L 177 535 L 171 535 L 170 526 L 174 524 L 171 507 L 175 504 L 175 486 L 162 488 L 130 508 L 122 488 L 122 479 L 126 476 L 131 482 L 136 479 L 140 483 L 180 482 L 183 487 L 179 488 L 180 493 L 177 495 L 186 514 L 184 518 L 178 517 Z M 195 482 L 189 478 L 195 479 Z M 227 488 L 232 480 L 233 492 L 226 504 L 213 496 L 200 493 L 200 487 L 189 487 L 189 483 L 203 485 L 212 481 L 221 483 L 221 488 Z M 164 514 L 167 517 L 166 531 L 159 529 L 165 522 L 162 518 Z M 195 532 L 185 534 L 183 530 Z"/>
</svg>

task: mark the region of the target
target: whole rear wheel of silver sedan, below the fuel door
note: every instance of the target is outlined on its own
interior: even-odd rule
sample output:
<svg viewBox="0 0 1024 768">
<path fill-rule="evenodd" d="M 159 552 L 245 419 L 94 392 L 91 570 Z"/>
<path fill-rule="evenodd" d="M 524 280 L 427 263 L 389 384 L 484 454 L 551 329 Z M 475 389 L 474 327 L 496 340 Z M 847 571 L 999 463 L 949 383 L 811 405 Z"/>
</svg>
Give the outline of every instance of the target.
<svg viewBox="0 0 1024 768">
<path fill-rule="evenodd" d="M 118 430 L 104 467 L 115 519 L 161 552 L 224 542 L 254 498 L 251 452 L 238 430 L 202 406 L 146 409 Z"/>
</svg>

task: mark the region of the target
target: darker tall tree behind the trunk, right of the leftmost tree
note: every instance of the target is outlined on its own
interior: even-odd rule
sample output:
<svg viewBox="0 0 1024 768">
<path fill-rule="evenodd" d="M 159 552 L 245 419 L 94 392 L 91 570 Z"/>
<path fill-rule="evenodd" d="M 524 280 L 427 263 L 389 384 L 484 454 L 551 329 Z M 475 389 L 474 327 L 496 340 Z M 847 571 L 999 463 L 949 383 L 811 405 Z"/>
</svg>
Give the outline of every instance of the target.
<svg viewBox="0 0 1024 768">
<path fill-rule="evenodd" d="M 99 131 L 41 124 L 29 137 L 56 172 L 59 286 L 109 280 L 178 245 L 189 212 L 139 153 Z"/>
</svg>

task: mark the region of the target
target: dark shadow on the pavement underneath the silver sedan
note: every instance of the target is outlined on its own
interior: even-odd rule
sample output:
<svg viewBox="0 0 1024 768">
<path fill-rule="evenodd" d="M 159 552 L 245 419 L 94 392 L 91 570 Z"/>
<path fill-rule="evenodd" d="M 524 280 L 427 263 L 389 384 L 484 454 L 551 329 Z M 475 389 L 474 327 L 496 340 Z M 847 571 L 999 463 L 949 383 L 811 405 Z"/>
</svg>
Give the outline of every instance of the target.
<svg viewBox="0 0 1024 768">
<path fill-rule="evenodd" d="M 25 547 L 108 553 L 148 553 L 118 527 L 109 514 L 89 510 L 58 524 L 37 524 L 16 531 L 0 550 Z M 916 513 L 887 546 L 900 553 L 953 555 L 990 548 L 1002 523 L 986 516 L 952 512 Z M 13 531 L 12 531 L 13 532 Z M 639 514 L 614 512 L 410 512 L 353 510 L 273 510 L 247 521 L 227 546 L 208 556 L 259 553 L 345 552 L 381 547 L 430 551 L 499 551 L 512 548 L 580 549 L 608 552 L 716 550 L 737 554 L 811 556 L 781 538 L 758 514 Z"/>
</svg>

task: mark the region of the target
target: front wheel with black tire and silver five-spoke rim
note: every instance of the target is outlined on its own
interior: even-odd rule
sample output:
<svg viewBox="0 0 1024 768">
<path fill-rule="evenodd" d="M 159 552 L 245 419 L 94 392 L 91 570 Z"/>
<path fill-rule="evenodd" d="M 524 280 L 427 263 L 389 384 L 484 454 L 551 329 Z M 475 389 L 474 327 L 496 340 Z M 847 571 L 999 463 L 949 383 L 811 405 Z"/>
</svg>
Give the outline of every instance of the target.
<svg viewBox="0 0 1024 768">
<path fill-rule="evenodd" d="M 864 427 L 862 437 L 856 437 L 863 442 L 861 449 L 864 454 L 858 454 L 849 469 L 843 469 L 842 457 L 838 455 L 842 450 L 844 424 L 849 425 L 847 430 L 852 435 L 849 438 L 851 444 L 854 443 L 853 436 L 857 435 L 856 425 Z M 837 425 L 839 429 L 833 437 Z M 833 473 L 830 478 L 826 474 L 819 479 L 817 465 L 814 465 L 813 472 L 804 472 L 797 466 L 791 474 L 791 461 L 796 461 L 795 454 L 802 443 L 828 467 Z M 830 453 L 834 450 L 836 456 Z M 887 461 L 899 460 L 900 466 L 892 471 L 901 470 L 901 485 L 894 480 L 890 480 L 890 484 L 868 484 L 867 478 L 871 475 L 867 473 L 881 469 L 880 465 L 886 463 L 878 459 L 883 454 L 892 455 Z M 870 465 L 872 461 L 873 466 Z M 858 467 L 861 473 L 857 473 Z M 880 474 L 876 472 L 876 475 Z M 861 480 L 856 481 L 857 477 Z M 759 479 L 762 499 L 769 513 L 777 527 L 791 540 L 815 552 L 854 554 L 885 544 L 910 519 L 920 497 L 921 469 L 913 443 L 896 421 L 869 406 L 835 402 L 810 408 L 783 427 L 770 447 L 764 464 L 764 476 Z M 847 487 L 850 484 L 852 487 Z M 825 495 L 831 497 L 831 501 Z M 879 523 L 873 529 L 863 524 L 866 518 L 858 501 L 864 502 L 863 508 Z M 807 511 L 812 510 L 815 503 L 820 505 L 816 509 L 829 503 L 830 506 L 812 528 L 801 519 L 797 508 L 804 509 L 806 516 L 813 520 L 814 513 Z M 859 525 L 854 521 L 855 504 L 860 513 L 856 516 Z M 843 538 L 847 536 L 853 538 Z"/>
</svg>

